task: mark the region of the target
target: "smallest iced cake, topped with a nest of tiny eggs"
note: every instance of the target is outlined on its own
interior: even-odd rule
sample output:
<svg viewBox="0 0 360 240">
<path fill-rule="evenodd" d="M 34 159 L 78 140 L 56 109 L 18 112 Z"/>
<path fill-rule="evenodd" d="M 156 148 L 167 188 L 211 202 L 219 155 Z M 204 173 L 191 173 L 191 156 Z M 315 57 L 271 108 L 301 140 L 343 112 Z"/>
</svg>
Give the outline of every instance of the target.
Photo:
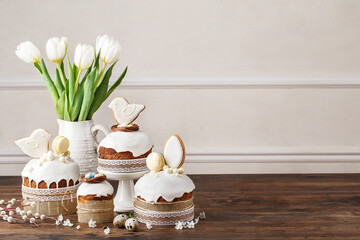
<svg viewBox="0 0 360 240">
<path fill-rule="evenodd" d="M 108 223 L 114 219 L 114 188 L 103 173 L 87 173 L 81 177 L 77 191 L 78 221 Z"/>
</svg>

